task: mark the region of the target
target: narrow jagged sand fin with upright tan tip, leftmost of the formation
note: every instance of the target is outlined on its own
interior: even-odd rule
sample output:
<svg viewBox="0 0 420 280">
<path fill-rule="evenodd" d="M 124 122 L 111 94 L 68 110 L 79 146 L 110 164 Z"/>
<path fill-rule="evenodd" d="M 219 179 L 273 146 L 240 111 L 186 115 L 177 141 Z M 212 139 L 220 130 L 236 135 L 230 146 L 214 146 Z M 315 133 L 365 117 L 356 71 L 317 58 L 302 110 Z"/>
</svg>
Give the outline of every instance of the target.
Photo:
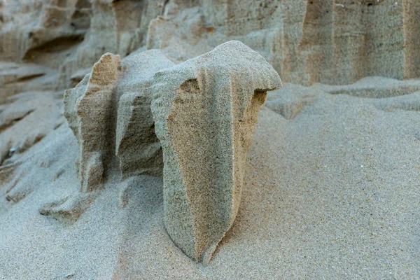
<svg viewBox="0 0 420 280">
<path fill-rule="evenodd" d="M 104 166 L 111 158 L 113 93 L 119 69 L 120 56 L 106 53 L 90 76 L 64 96 L 64 116 L 78 141 L 76 170 L 82 192 L 102 185 Z"/>
</svg>

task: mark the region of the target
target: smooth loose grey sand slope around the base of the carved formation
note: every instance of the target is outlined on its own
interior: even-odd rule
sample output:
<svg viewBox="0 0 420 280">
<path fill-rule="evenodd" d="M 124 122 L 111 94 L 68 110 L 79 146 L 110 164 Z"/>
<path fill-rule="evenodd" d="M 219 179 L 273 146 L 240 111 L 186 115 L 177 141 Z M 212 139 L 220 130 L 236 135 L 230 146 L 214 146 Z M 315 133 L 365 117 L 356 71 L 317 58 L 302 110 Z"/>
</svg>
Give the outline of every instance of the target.
<svg viewBox="0 0 420 280">
<path fill-rule="evenodd" d="M 57 125 L 8 158 L 0 279 L 419 279 L 420 92 L 370 82 L 393 93 L 286 84 L 269 94 L 239 214 L 207 266 L 165 232 L 162 179 L 139 177 L 124 208 L 109 181 L 75 223 L 39 214 L 78 190 L 76 139 Z M 26 196 L 7 201 L 6 188 Z"/>
</svg>

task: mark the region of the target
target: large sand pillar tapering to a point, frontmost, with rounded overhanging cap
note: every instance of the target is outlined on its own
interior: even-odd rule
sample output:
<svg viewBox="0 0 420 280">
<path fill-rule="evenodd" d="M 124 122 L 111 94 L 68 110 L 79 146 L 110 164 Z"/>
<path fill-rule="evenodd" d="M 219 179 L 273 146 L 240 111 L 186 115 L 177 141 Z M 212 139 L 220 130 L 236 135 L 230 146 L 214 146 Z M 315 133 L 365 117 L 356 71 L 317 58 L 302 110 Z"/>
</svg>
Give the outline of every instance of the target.
<svg viewBox="0 0 420 280">
<path fill-rule="evenodd" d="M 235 220 L 258 111 L 276 87 L 279 74 L 239 41 L 155 74 L 165 225 L 194 260 L 208 262 Z"/>
</svg>

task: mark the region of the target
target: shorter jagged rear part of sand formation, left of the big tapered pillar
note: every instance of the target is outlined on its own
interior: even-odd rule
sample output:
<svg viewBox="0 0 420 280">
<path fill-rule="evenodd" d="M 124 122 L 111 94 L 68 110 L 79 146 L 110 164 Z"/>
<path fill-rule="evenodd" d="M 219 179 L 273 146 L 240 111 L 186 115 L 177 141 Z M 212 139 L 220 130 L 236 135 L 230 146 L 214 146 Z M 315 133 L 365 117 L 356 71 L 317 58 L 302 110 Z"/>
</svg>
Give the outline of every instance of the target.
<svg viewBox="0 0 420 280">
<path fill-rule="evenodd" d="M 80 192 L 47 204 L 41 214 L 76 221 L 103 188 L 118 176 L 162 174 L 162 149 L 154 132 L 151 98 L 144 91 L 156 71 L 173 63 L 160 50 L 120 61 L 106 53 L 64 94 L 64 116 L 78 141 Z"/>
</svg>

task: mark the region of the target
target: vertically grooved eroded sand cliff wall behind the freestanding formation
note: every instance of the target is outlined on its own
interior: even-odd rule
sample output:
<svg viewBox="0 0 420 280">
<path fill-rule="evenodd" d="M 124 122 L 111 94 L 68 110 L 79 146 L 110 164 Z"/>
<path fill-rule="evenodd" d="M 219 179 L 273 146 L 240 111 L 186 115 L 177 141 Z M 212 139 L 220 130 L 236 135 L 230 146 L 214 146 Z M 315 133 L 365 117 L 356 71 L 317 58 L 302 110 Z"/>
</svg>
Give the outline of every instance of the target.
<svg viewBox="0 0 420 280">
<path fill-rule="evenodd" d="M 358 1 L 6 1 L 0 59 L 59 68 L 74 86 L 105 52 L 160 48 L 182 62 L 232 39 L 286 82 L 420 76 L 420 3 Z"/>
</svg>

